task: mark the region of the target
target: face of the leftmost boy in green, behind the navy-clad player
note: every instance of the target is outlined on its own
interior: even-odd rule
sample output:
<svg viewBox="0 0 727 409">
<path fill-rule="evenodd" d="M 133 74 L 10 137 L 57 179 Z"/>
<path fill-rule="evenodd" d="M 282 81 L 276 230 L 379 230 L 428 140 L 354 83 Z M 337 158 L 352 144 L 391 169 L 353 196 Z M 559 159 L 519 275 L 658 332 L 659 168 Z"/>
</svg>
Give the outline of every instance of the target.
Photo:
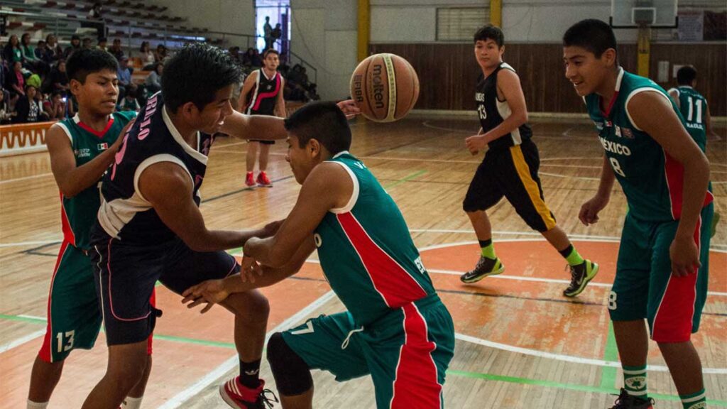
<svg viewBox="0 0 727 409">
<path fill-rule="evenodd" d="M 111 115 L 119 98 L 119 80 L 116 71 L 103 70 L 86 76 L 86 82 L 71 79 L 71 92 L 76 95 L 79 106 L 93 114 Z"/>
</svg>

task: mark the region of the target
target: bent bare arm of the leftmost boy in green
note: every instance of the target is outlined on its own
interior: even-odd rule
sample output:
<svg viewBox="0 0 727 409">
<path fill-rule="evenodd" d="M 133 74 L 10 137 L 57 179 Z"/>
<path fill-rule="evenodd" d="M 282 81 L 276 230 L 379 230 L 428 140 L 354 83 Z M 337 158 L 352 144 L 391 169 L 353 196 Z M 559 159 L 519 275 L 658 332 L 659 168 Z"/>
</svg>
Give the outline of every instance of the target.
<svg viewBox="0 0 727 409">
<path fill-rule="evenodd" d="M 126 130 L 134 122 L 129 122 L 121 130 L 119 138 L 106 151 L 89 162 L 76 167 L 76 156 L 73 154 L 71 140 L 60 125 L 55 124 L 47 132 L 46 145 L 50 154 L 50 167 L 61 193 L 65 197 L 73 197 L 91 186 L 95 186 L 113 162 L 113 156 L 119 150 Z"/>
</svg>

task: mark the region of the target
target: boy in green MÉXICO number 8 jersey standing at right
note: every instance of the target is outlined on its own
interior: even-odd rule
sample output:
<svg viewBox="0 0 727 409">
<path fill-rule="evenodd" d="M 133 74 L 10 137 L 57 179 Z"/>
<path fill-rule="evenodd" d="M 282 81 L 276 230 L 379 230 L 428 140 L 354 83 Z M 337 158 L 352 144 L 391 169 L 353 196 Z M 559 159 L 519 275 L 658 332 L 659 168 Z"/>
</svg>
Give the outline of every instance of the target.
<svg viewBox="0 0 727 409">
<path fill-rule="evenodd" d="M 666 91 L 619 67 L 607 23 L 571 26 L 563 36 L 563 61 L 605 151 L 598 192 L 579 218 L 585 225 L 598 222 L 616 179 L 629 206 L 608 300 L 624 369 L 613 408 L 652 408 L 644 319 L 683 407 L 705 408 L 702 364 L 690 341 L 707 295 L 713 213 L 704 143 L 689 135 Z"/>
</svg>

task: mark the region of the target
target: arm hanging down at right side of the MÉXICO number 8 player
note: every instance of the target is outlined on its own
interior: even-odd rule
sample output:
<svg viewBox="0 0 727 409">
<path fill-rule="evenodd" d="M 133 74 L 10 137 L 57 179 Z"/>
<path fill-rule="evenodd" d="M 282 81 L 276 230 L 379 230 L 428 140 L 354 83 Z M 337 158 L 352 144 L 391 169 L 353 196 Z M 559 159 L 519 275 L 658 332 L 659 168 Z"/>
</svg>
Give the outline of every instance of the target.
<svg viewBox="0 0 727 409">
<path fill-rule="evenodd" d="M 676 237 L 670 247 L 672 272 L 683 276 L 699 266 L 694 230 L 707 194 L 710 163 L 672 109 L 670 100 L 659 92 L 639 92 L 627 105 L 636 127 L 651 135 L 667 156 L 684 167 L 682 213 Z"/>
</svg>

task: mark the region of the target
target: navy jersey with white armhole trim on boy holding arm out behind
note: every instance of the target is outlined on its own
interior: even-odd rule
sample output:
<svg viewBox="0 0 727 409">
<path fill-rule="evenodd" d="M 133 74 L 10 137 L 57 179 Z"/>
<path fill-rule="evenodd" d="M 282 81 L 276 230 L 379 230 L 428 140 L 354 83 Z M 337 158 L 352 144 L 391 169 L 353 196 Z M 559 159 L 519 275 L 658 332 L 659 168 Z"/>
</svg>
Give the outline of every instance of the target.
<svg viewBox="0 0 727 409">
<path fill-rule="evenodd" d="M 194 186 L 192 199 L 199 205 L 199 187 L 213 140 L 212 135 L 198 132 L 196 148 L 189 146 L 169 119 L 161 92 L 149 98 L 103 177 L 95 239 L 103 239 L 103 232 L 131 244 L 157 245 L 173 239 L 174 232 L 140 193 L 139 177 L 158 162 L 179 164 L 189 174 Z"/>
</svg>

